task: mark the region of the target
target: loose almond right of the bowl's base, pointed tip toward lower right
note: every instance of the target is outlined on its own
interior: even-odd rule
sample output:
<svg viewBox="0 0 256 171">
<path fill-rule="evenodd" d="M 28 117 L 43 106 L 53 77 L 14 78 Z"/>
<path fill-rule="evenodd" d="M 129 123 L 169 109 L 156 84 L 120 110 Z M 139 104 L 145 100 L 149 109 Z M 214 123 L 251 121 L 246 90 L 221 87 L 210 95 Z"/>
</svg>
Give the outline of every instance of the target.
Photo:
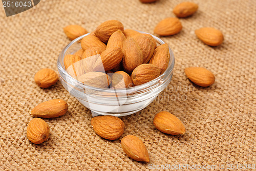
<svg viewBox="0 0 256 171">
<path fill-rule="evenodd" d="M 170 135 L 185 134 L 186 131 L 176 116 L 165 111 L 156 114 L 153 123 L 159 131 Z"/>
</svg>

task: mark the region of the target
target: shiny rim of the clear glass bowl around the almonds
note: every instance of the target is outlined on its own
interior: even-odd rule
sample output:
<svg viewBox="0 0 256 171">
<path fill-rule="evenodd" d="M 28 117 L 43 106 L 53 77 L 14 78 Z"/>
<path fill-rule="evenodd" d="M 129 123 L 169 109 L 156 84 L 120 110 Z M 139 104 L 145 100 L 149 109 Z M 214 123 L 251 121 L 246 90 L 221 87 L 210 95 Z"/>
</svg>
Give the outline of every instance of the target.
<svg viewBox="0 0 256 171">
<path fill-rule="evenodd" d="M 135 30 L 135 31 L 138 31 L 138 30 Z M 143 31 L 138 31 L 140 33 L 144 33 L 144 34 L 150 34 L 150 33 L 146 33 L 146 32 L 143 32 Z M 166 76 L 168 76 L 169 73 L 172 73 L 173 70 L 174 70 L 174 65 L 175 65 L 175 58 L 174 58 L 174 54 L 173 54 L 173 51 L 172 49 L 170 49 L 170 47 L 168 46 L 169 48 L 169 54 L 170 54 L 170 60 L 169 60 L 169 63 L 168 63 L 168 67 L 166 68 L 166 70 L 160 75 L 158 76 L 157 78 L 149 81 L 149 82 L 146 82 L 144 84 L 141 84 L 139 86 L 134 86 L 134 87 L 129 87 L 129 88 L 123 88 L 123 89 L 109 89 L 109 88 L 96 88 L 96 87 L 92 87 L 92 86 L 88 86 L 87 84 L 84 84 L 82 82 L 79 82 L 77 79 L 73 78 L 68 72 L 67 70 L 65 69 L 64 67 L 64 62 L 63 62 L 63 59 L 65 57 L 65 53 L 67 52 L 67 50 L 75 43 L 75 42 L 78 42 L 79 40 L 81 40 L 83 37 L 89 35 L 91 33 L 87 33 L 87 34 L 84 34 L 80 37 L 77 37 L 76 39 L 72 40 L 65 48 L 62 49 L 62 51 L 60 52 L 59 56 L 58 56 L 58 59 L 57 59 L 57 68 L 58 68 L 58 71 L 59 71 L 59 74 L 62 73 L 63 75 L 66 76 L 66 79 L 69 79 L 70 81 L 72 82 L 76 82 L 76 86 L 78 86 L 81 90 L 84 90 L 84 89 L 91 89 L 91 90 L 94 90 L 94 91 L 99 91 L 99 92 L 107 92 L 107 93 L 135 93 L 135 92 L 140 92 L 142 90 L 145 90 L 147 88 L 150 88 L 152 87 L 155 83 L 157 83 L 159 80 L 161 80 L 162 78 L 165 78 Z M 159 37 L 157 36 L 154 36 L 152 34 L 150 34 L 155 40 L 157 40 L 157 42 L 160 44 L 160 45 L 163 45 L 165 44 L 166 42 L 164 42 L 162 39 L 160 39 Z M 168 44 L 167 44 L 168 45 Z M 60 76 L 62 77 L 62 75 L 60 74 Z M 63 79 L 63 78 L 62 78 Z M 65 80 L 65 79 L 63 79 Z M 65 80 L 67 81 L 67 80 Z M 125 92 L 124 92 L 125 91 Z"/>
</svg>

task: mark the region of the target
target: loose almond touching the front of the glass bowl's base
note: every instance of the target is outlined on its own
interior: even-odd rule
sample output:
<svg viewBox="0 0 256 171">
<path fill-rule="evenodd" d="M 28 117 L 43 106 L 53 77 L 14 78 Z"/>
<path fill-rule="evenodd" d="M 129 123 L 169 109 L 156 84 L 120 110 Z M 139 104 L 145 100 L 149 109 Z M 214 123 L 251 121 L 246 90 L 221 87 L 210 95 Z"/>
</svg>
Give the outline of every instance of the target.
<svg viewBox="0 0 256 171">
<path fill-rule="evenodd" d="M 124 132 L 123 121 L 115 116 L 96 116 L 91 124 L 96 134 L 108 140 L 116 140 Z"/>
</svg>

